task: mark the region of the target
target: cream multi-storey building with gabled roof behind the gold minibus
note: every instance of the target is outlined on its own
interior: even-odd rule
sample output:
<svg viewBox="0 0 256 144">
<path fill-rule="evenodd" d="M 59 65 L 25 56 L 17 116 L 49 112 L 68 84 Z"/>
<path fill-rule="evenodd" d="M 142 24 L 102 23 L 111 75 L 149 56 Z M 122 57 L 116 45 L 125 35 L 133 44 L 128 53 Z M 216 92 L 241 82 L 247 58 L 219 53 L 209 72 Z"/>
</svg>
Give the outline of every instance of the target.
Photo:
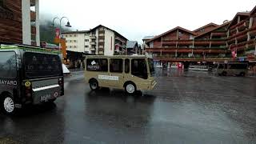
<svg viewBox="0 0 256 144">
<path fill-rule="evenodd" d="M 91 30 L 62 33 L 66 38 L 66 50 L 86 54 L 125 54 L 127 38 L 106 26 L 96 26 Z"/>
</svg>

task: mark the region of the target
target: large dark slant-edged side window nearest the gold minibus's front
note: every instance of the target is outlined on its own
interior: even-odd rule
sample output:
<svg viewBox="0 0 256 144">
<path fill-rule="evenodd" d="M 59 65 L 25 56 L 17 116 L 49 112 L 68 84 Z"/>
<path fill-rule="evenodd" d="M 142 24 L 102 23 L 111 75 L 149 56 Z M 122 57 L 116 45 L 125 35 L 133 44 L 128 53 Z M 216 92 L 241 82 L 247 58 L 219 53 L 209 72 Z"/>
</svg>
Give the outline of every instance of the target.
<svg viewBox="0 0 256 144">
<path fill-rule="evenodd" d="M 145 58 L 134 58 L 131 60 L 131 74 L 139 78 L 147 79 L 147 69 Z"/>
</svg>

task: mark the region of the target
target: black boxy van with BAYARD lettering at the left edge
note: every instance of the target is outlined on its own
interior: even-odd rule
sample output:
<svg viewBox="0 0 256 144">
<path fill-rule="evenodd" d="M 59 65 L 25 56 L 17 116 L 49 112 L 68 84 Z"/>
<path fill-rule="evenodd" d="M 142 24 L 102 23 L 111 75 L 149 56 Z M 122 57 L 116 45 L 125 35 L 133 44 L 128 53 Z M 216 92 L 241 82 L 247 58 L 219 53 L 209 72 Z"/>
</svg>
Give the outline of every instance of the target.
<svg viewBox="0 0 256 144">
<path fill-rule="evenodd" d="M 54 102 L 64 95 L 57 50 L 0 45 L 0 110 L 13 114 L 26 104 Z"/>
</svg>

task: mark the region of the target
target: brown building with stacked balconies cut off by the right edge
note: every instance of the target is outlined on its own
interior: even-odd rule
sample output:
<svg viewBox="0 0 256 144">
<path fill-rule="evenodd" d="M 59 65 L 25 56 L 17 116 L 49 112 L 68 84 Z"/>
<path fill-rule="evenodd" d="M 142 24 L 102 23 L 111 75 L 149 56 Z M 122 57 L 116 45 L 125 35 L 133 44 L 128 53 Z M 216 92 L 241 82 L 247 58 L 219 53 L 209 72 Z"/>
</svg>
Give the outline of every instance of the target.
<svg viewBox="0 0 256 144">
<path fill-rule="evenodd" d="M 227 34 L 227 44 L 235 60 L 255 60 L 256 6 L 250 12 L 236 14 Z"/>
</svg>

